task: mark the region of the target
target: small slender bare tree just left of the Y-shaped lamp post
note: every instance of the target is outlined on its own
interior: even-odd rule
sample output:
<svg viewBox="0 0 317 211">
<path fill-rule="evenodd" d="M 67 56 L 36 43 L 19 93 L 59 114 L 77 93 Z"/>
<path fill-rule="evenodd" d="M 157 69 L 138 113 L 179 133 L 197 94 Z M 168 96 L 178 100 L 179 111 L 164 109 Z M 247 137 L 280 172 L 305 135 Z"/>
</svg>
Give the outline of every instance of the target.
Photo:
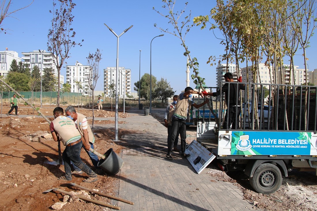
<svg viewBox="0 0 317 211">
<path fill-rule="evenodd" d="M 93 96 L 93 132 L 94 132 L 94 90 L 97 85 L 98 78 L 100 77 L 99 74 L 99 62 L 101 60 L 101 53 L 100 50 L 97 48 L 97 51 L 93 54 L 89 52 L 88 57 L 86 57 L 87 63 L 89 65 L 89 76 L 88 76 L 88 83 L 89 88 L 92 91 Z"/>
</svg>

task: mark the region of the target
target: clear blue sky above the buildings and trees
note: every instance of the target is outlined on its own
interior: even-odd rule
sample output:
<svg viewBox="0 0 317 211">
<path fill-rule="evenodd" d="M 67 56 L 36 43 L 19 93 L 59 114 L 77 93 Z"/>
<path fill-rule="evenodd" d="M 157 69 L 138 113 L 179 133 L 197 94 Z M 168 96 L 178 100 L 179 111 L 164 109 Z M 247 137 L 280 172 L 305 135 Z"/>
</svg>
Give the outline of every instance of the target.
<svg viewBox="0 0 317 211">
<path fill-rule="evenodd" d="M 31 0 L 12 0 L 9 11 L 27 5 Z M 97 48 L 101 50 L 102 60 L 100 61 L 100 78 L 96 90 L 103 90 L 103 69 L 116 66 L 117 38 L 104 25 L 106 23 L 116 34 L 121 34 L 124 29 L 133 27 L 119 38 L 119 66 L 131 69 L 131 87 L 139 80 L 139 65 L 141 66 L 141 77 L 144 73 L 150 73 L 150 42 L 157 35 L 165 34 L 153 25 L 169 28 L 168 20 L 152 8 L 159 11 L 162 9 L 161 0 L 94 0 L 83 1 L 73 0 L 76 7 L 73 10 L 74 22 L 72 27 L 76 32 L 75 40 L 84 40 L 82 46 L 76 46 L 70 51 L 70 58 L 66 60 L 67 65 L 75 65 L 79 61 L 83 65 L 87 64 L 87 55 L 94 53 Z M 184 7 L 186 1 L 179 0 L 176 6 L 179 9 Z M 190 0 L 186 11 L 191 10 L 192 18 L 199 15 L 210 14 L 210 9 L 215 6 L 215 1 L 210 0 Z M 2 23 L 3 28 L 7 28 L 7 34 L 0 33 L 1 51 L 7 47 L 11 51 L 16 51 L 22 57 L 22 52 L 33 50 L 47 51 L 47 34 L 51 26 L 53 9 L 52 0 L 35 0 L 26 9 L 20 10 L 7 17 Z M 166 13 L 166 11 L 164 11 Z M 188 13 L 187 13 L 188 14 Z M 217 31 L 215 31 L 217 34 Z M 317 68 L 315 49 L 317 49 L 316 35 L 311 38 L 310 48 L 307 49 L 307 61 L 310 70 Z M 223 46 L 219 44 L 208 29 L 200 30 L 194 27 L 185 37 L 185 42 L 191 51 L 191 57 L 196 57 L 199 62 L 200 76 L 206 78 L 207 86 L 216 85 L 216 66 L 206 64 L 210 56 L 222 55 Z M 152 75 L 158 80 L 166 78 L 171 87 L 178 94 L 186 87 L 186 57 L 183 55 L 184 48 L 181 41 L 171 35 L 165 34 L 152 41 Z M 139 50 L 141 50 L 141 63 L 139 63 Z M 297 54 L 302 54 L 298 50 Z M 288 64 L 288 61 L 284 61 Z M 304 68 L 303 57 L 295 57 L 295 65 Z M 65 65 L 61 70 L 65 80 Z M 243 67 L 243 65 L 241 65 Z M 190 75 L 192 74 L 192 71 Z M 191 80 L 191 87 L 196 85 Z"/>
</svg>

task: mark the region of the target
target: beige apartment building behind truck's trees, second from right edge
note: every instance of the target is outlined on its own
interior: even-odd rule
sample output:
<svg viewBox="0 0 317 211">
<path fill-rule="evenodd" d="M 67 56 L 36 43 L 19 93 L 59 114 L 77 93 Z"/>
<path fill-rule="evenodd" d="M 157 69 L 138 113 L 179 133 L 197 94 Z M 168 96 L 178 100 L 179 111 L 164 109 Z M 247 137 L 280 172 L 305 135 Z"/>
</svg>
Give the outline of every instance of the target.
<svg viewBox="0 0 317 211">
<path fill-rule="evenodd" d="M 282 76 L 284 77 L 283 84 L 301 85 L 306 83 L 305 69 L 297 69 L 297 68 L 298 66 L 294 66 L 294 74 L 293 74 L 293 71 L 291 72 L 289 70 L 289 65 L 283 65 L 282 67 Z M 309 82 L 309 78 L 307 82 Z M 281 69 L 279 69 L 278 71 L 278 83 L 282 84 Z"/>
</svg>

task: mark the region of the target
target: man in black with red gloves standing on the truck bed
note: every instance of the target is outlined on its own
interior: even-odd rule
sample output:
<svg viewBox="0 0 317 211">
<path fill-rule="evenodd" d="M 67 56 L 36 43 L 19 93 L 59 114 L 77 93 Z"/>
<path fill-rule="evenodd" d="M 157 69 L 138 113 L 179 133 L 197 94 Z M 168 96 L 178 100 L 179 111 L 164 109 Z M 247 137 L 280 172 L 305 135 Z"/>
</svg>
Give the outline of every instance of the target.
<svg viewBox="0 0 317 211">
<path fill-rule="evenodd" d="M 227 72 L 223 75 L 224 80 L 226 82 L 234 82 L 233 76 L 230 72 Z M 242 78 L 238 78 L 238 82 L 242 82 Z M 229 88 L 230 87 L 230 88 Z M 224 116 L 223 121 L 223 129 L 229 129 L 232 124 L 232 129 L 238 129 L 239 128 L 239 122 L 240 122 L 240 90 L 245 90 L 245 84 L 231 84 L 226 83 L 222 86 L 222 93 L 225 93 L 226 98 L 226 115 Z M 204 96 L 219 96 L 220 95 L 220 89 L 217 92 L 203 92 Z M 230 96 L 229 96 L 230 95 Z M 228 117 L 229 115 L 229 117 Z M 236 117 L 238 117 L 236 119 Z"/>
</svg>

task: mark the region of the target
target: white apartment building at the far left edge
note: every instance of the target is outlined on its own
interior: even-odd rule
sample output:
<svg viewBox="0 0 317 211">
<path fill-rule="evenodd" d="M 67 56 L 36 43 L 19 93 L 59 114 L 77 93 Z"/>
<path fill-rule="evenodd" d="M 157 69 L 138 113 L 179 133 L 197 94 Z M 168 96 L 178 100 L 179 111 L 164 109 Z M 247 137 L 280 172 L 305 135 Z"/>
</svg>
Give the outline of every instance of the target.
<svg viewBox="0 0 317 211">
<path fill-rule="evenodd" d="M 22 60 L 15 51 L 0 51 L 0 59 L 0 76 L 8 75 L 13 59 L 16 63 Z"/>
</svg>

